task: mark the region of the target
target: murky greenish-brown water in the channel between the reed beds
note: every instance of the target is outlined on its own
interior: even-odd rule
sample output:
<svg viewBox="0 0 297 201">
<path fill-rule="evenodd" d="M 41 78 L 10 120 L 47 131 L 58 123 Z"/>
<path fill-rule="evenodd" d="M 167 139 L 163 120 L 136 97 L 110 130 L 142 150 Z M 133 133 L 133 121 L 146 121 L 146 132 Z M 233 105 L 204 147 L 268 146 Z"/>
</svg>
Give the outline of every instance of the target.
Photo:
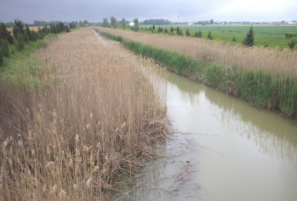
<svg viewBox="0 0 297 201">
<path fill-rule="evenodd" d="M 297 122 L 168 72 L 176 134 L 119 200 L 297 200 Z"/>
</svg>

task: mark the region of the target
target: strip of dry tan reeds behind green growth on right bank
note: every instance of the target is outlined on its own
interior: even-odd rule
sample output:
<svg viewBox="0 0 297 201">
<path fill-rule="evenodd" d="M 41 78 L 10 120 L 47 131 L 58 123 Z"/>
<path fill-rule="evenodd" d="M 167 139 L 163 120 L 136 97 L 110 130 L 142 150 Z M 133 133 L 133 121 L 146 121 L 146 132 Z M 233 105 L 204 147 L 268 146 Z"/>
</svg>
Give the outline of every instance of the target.
<svg viewBox="0 0 297 201">
<path fill-rule="evenodd" d="M 124 39 L 190 55 L 205 62 L 297 75 L 297 51 L 291 52 L 288 48 L 273 49 L 255 46 L 246 48 L 242 45 L 230 45 L 227 42 L 209 41 L 194 37 L 148 34 L 103 27 L 94 28 L 122 36 Z"/>
</svg>

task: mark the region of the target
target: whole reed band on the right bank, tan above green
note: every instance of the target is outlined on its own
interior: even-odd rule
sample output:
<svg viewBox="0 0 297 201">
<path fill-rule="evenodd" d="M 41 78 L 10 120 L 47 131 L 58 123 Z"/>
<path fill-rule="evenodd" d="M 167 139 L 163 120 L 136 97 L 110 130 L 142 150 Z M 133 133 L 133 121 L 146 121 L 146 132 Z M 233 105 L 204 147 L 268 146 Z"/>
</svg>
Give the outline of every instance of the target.
<svg viewBox="0 0 297 201">
<path fill-rule="evenodd" d="M 167 68 L 249 103 L 297 117 L 297 51 L 98 28 Z M 118 36 L 118 37 L 115 37 Z M 119 38 L 120 37 L 120 38 Z"/>
</svg>

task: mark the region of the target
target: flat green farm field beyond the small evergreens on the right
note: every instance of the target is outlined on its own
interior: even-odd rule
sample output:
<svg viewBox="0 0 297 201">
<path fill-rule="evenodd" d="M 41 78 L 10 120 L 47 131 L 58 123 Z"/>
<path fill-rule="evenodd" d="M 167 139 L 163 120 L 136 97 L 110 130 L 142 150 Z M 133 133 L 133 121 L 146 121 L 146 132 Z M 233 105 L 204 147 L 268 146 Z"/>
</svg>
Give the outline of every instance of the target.
<svg viewBox="0 0 297 201">
<path fill-rule="evenodd" d="M 140 28 L 149 28 L 152 25 L 140 25 Z M 181 28 L 183 34 L 186 34 L 187 28 L 191 36 L 195 31 L 202 31 L 202 38 L 207 38 L 208 31 L 214 40 L 231 41 L 233 36 L 237 43 L 241 43 L 250 28 L 250 25 L 172 25 L 173 28 Z M 156 31 L 159 25 L 155 25 Z M 163 29 L 170 31 L 171 25 L 162 25 Z M 255 45 L 268 47 L 287 47 L 290 39 L 285 39 L 285 32 L 297 33 L 297 25 L 253 25 L 255 31 Z M 231 33 L 230 33 L 231 31 Z"/>
</svg>

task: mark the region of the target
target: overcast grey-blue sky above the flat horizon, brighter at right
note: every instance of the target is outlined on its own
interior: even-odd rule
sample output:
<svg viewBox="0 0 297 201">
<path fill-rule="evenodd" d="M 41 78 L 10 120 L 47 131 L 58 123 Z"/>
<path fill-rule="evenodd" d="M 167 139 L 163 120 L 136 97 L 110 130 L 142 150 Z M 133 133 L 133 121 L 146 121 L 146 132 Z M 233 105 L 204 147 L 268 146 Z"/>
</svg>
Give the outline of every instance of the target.
<svg viewBox="0 0 297 201">
<path fill-rule="evenodd" d="M 111 16 L 142 21 L 292 21 L 297 20 L 296 0 L 0 0 L 0 20 L 23 22 L 60 20 L 102 22 Z M 178 17 L 179 16 L 179 17 Z"/>
</svg>

